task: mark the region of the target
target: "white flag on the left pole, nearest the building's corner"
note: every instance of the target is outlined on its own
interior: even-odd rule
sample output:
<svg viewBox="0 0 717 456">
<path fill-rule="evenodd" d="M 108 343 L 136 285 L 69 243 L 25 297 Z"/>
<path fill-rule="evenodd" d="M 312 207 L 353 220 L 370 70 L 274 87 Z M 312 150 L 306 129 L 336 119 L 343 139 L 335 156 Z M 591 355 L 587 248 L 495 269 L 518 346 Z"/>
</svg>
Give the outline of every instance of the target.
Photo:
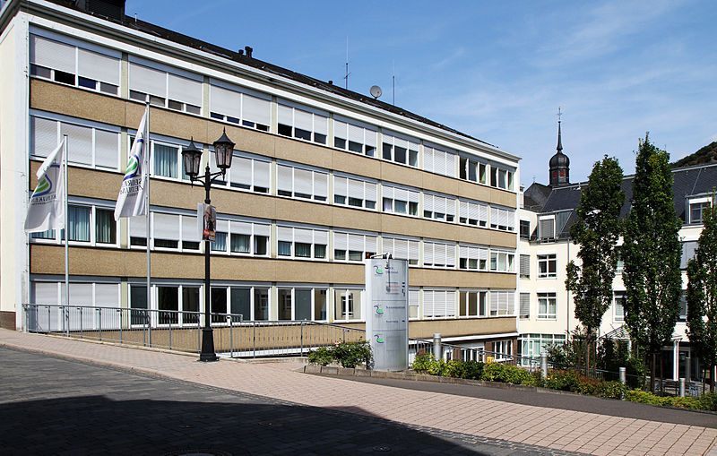
<svg viewBox="0 0 717 456">
<path fill-rule="evenodd" d="M 30 196 L 25 232 L 65 228 L 65 153 L 63 142 L 38 169 L 38 186 Z"/>
</svg>

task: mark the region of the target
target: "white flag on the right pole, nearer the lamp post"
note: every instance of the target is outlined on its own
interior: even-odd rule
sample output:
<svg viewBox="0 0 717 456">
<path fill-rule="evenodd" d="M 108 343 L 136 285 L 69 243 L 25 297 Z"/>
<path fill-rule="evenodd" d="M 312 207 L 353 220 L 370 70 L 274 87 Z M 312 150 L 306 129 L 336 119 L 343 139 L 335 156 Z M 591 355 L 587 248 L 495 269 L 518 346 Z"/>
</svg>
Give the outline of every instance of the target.
<svg viewBox="0 0 717 456">
<path fill-rule="evenodd" d="M 137 137 L 134 138 L 132 151 L 129 153 L 127 160 L 127 170 L 125 178 L 122 179 L 122 186 L 119 187 L 119 195 L 117 196 L 117 204 L 115 205 L 115 219 L 120 217 L 134 217 L 135 215 L 144 215 L 147 208 L 145 207 L 145 192 L 147 189 L 147 172 L 144 166 L 144 154 L 149 153 L 149 137 L 147 117 L 150 114 L 150 108 L 144 111 L 144 116 L 137 128 Z"/>
</svg>

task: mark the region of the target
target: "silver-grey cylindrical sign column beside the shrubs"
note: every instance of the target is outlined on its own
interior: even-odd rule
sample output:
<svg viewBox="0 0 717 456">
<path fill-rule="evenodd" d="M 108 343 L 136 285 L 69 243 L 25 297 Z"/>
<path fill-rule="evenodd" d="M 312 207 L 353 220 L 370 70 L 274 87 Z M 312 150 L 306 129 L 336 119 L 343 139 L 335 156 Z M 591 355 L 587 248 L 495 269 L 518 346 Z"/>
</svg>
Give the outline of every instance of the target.
<svg viewBox="0 0 717 456">
<path fill-rule="evenodd" d="M 409 362 L 409 262 L 366 262 L 366 337 L 377 371 L 402 371 Z"/>
</svg>

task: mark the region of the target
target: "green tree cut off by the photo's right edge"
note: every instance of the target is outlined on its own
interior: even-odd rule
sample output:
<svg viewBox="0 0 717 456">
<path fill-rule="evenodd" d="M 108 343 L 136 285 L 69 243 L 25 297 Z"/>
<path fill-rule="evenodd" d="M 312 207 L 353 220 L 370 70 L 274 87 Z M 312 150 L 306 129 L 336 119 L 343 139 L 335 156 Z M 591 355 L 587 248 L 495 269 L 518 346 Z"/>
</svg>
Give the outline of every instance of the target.
<svg viewBox="0 0 717 456">
<path fill-rule="evenodd" d="M 714 197 L 713 197 L 714 201 Z M 717 365 L 717 207 L 703 212 L 704 228 L 695 258 L 687 262 L 687 336 L 702 362 L 710 366 L 714 391 Z"/>
</svg>

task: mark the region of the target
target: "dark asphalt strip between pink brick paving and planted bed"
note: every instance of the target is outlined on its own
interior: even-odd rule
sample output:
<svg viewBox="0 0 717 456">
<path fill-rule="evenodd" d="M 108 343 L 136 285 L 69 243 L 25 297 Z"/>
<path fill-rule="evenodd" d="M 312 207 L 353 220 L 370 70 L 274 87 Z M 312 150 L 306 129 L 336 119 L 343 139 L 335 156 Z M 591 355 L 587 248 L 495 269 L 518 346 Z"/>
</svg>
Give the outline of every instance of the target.
<svg viewBox="0 0 717 456">
<path fill-rule="evenodd" d="M 419 391 L 443 392 L 473 398 L 502 400 L 516 404 L 549 407 L 551 409 L 579 410 L 613 417 L 649 419 L 663 423 L 717 428 L 717 413 L 656 407 L 649 404 L 603 399 L 580 394 L 517 391 L 486 386 L 417 382 L 414 380 L 393 380 L 376 377 L 341 376 L 341 378 L 355 382 L 376 383 Z"/>
</svg>

